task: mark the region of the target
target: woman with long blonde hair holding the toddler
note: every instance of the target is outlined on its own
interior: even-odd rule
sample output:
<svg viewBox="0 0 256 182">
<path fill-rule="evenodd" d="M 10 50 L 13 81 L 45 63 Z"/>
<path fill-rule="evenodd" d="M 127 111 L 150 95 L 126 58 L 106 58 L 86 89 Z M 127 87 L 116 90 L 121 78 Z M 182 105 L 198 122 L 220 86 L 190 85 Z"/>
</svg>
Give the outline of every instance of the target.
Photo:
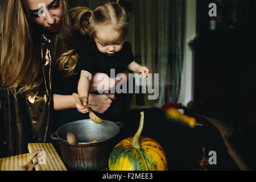
<svg viewBox="0 0 256 182">
<path fill-rule="evenodd" d="M 76 107 L 71 96 L 53 97 L 52 85 L 54 68 L 65 77 L 74 74 L 76 40 L 65 0 L 2 1 L 1 105 L 7 155 L 26 153 L 30 142 L 50 142 L 53 107 Z M 111 98 L 113 94 L 90 94 L 89 106 L 104 113 Z"/>
</svg>

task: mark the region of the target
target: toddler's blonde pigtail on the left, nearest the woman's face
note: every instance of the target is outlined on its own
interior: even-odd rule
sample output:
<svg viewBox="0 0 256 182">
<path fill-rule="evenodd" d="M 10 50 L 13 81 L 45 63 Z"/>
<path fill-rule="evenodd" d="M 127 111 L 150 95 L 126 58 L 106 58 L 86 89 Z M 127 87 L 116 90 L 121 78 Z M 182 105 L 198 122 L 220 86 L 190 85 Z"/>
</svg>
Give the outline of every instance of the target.
<svg viewBox="0 0 256 182">
<path fill-rule="evenodd" d="M 73 27 L 81 32 L 83 35 L 88 34 L 88 26 L 92 10 L 88 7 L 73 7 L 69 10 L 70 18 L 73 23 Z"/>
</svg>

